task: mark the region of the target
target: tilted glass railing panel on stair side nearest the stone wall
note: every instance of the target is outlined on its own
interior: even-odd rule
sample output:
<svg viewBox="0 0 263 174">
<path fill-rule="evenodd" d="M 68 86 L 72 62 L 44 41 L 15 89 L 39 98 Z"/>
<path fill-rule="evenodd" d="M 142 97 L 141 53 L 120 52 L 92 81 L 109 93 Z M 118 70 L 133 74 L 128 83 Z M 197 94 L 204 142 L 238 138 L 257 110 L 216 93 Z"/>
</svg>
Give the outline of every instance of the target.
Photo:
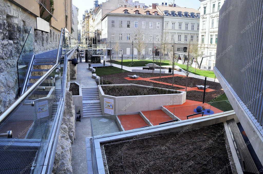
<svg viewBox="0 0 263 174">
<path fill-rule="evenodd" d="M 32 28 L 28 30 L 26 41 L 22 47 L 22 51 L 17 60 L 17 75 L 19 95 L 21 95 L 23 86 L 27 80 L 27 72 L 30 69 L 33 60 L 33 31 Z"/>
</svg>

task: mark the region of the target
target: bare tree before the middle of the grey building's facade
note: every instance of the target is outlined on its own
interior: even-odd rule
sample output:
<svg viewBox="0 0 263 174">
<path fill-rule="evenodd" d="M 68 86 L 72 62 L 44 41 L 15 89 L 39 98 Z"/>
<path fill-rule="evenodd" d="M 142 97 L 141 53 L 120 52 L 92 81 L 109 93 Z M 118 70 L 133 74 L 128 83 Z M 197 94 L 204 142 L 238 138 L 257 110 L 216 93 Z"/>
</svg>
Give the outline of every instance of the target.
<svg viewBox="0 0 263 174">
<path fill-rule="evenodd" d="M 138 51 L 138 60 L 140 60 L 140 52 L 142 52 L 148 45 L 148 43 L 145 42 L 145 34 L 138 28 L 134 32 L 133 36 L 133 46 Z"/>
</svg>

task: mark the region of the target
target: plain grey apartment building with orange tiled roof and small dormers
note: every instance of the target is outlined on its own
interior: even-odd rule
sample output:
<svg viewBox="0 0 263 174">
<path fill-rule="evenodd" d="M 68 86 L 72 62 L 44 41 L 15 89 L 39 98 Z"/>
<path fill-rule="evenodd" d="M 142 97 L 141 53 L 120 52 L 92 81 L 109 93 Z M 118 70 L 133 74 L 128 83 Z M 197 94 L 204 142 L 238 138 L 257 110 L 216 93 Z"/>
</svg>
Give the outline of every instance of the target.
<svg viewBox="0 0 263 174">
<path fill-rule="evenodd" d="M 140 53 L 133 47 L 133 55 L 153 55 L 153 50 L 159 55 L 162 29 L 163 13 L 158 9 L 120 7 L 102 18 L 102 41 L 113 48 L 111 55 L 131 55 L 132 42 L 138 40 L 145 46 Z"/>
</svg>

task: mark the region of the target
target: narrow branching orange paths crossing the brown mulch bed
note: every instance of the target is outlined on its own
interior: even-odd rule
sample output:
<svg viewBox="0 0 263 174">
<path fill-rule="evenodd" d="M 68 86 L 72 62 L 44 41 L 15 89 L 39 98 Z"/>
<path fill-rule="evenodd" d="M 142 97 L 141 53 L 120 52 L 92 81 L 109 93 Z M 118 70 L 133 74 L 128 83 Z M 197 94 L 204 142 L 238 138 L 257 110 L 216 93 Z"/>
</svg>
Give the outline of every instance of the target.
<svg viewBox="0 0 263 174">
<path fill-rule="evenodd" d="M 180 75 L 180 74 L 174 74 L 174 76 L 178 76 L 178 77 L 186 77 L 185 75 Z M 173 75 L 166 75 L 166 76 L 161 76 L 161 78 L 166 78 L 166 77 L 173 77 Z M 125 77 L 124 79 L 126 80 L 144 80 L 144 81 L 151 81 L 151 82 L 154 82 L 154 83 L 160 83 L 160 84 L 164 84 L 164 85 L 170 85 L 170 86 L 173 86 L 173 84 L 171 83 L 165 83 L 165 82 L 162 82 L 162 81 L 156 81 L 156 80 L 151 80 L 151 79 L 158 79 L 159 77 L 148 77 L 148 78 L 142 78 L 142 77 L 139 77 L 138 79 L 131 79 L 129 77 Z M 184 88 L 184 89 L 179 89 L 179 91 L 185 91 L 185 86 L 181 86 L 181 85 L 175 85 L 174 86 L 176 87 L 179 87 L 179 88 Z M 197 87 L 187 87 L 187 90 L 188 91 L 204 91 L 203 89 L 198 89 Z M 215 91 L 214 89 L 210 89 L 210 88 L 207 88 L 205 90 L 205 92 L 211 92 L 211 91 Z"/>
</svg>

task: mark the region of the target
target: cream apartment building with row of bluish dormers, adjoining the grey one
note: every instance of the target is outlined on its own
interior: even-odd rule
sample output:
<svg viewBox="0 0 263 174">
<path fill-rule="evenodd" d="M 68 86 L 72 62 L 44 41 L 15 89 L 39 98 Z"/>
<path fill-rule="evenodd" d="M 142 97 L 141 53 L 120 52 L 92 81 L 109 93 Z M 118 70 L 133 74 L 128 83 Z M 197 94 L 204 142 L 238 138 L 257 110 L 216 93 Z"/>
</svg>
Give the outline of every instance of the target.
<svg viewBox="0 0 263 174">
<path fill-rule="evenodd" d="M 193 8 L 181 8 L 176 4 L 169 6 L 155 6 L 164 15 L 163 31 L 168 35 L 169 43 L 175 45 L 175 51 L 187 51 L 189 41 L 199 40 L 200 12 Z"/>
</svg>

